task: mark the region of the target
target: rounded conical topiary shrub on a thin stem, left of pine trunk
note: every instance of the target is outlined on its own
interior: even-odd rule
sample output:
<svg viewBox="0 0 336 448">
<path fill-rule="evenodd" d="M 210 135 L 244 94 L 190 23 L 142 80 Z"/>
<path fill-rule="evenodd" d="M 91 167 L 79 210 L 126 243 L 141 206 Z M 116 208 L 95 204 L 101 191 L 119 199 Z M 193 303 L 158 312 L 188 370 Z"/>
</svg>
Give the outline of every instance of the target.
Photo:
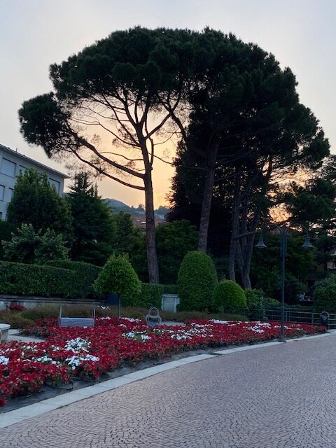
<svg viewBox="0 0 336 448">
<path fill-rule="evenodd" d="M 94 281 L 93 287 L 97 293 L 104 295 L 118 293 L 135 297 L 141 291 L 141 282 L 125 255 L 112 255 Z"/>
</svg>

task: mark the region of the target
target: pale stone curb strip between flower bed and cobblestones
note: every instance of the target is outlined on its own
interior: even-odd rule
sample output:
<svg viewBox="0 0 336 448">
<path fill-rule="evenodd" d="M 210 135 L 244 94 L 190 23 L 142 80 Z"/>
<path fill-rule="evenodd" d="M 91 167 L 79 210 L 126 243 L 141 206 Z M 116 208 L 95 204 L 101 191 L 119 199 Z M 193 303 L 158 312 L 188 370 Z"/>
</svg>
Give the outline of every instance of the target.
<svg viewBox="0 0 336 448">
<path fill-rule="evenodd" d="M 287 342 L 299 342 L 317 337 L 331 336 L 335 333 L 336 330 L 330 331 L 328 333 L 323 333 L 322 335 L 304 336 L 294 339 L 288 339 Z M 155 374 L 165 372 L 165 370 L 171 370 L 176 367 L 181 367 L 183 365 L 187 365 L 190 363 L 196 363 L 201 360 L 217 358 L 218 356 L 221 355 L 238 353 L 239 351 L 260 349 L 262 347 L 279 345 L 279 344 L 283 344 L 283 342 L 274 341 L 274 342 L 265 342 L 262 344 L 239 346 L 234 349 L 223 349 L 214 351 L 213 355 L 202 354 L 202 355 L 188 356 L 188 358 L 182 358 L 180 360 L 174 360 L 165 364 L 155 365 L 154 367 L 148 367 L 143 370 L 138 370 L 137 372 L 125 374 L 123 375 L 123 377 L 109 379 L 107 381 L 103 381 L 102 383 L 94 384 L 93 386 L 87 386 L 85 388 L 81 388 L 76 391 L 64 393 L 62 395 L 58 395 L 53 398 L 42 400 L 41 402 L 34 403 L 33 405 L 20 407 L 20 409 L 14 409 L 13 411 L 0 414 L 0 428 L 6 428 L 7 426 L 14 425 L 15 423 L 20 423 L 21 421 L 31 419 L 34 416 L 38 416 L 44 414 L 45 412 L 50 412 L 52 410 L 58 409 L 59 407 L 64 407 L 70 405 L 71 403 L 84 400 L 85 398 L 93 397 L 94 395 L 97 395 L 99 393 L 112 391 L 117 387 L 125 386 L 125 384 L 130 384 L 133 383 L 134 381 L 139 381 L 141 379 L 151 377 Z"/>
</svg>

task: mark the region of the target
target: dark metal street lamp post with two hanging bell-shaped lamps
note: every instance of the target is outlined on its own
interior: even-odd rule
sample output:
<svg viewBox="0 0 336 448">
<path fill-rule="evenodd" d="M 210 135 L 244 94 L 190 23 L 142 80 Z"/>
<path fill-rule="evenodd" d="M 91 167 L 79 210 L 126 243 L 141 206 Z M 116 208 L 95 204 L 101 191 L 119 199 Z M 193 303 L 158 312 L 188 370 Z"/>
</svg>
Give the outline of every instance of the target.
<svg viewBox="0 0 336 448">
<path fill-rule="evenodd" d="M 306 232 L 306 237 L 304 239 L 304 243 L 302 244 L 302 248 L 304 249 L 311 249 L 314 246 L 311 245 L 309 241 L 309 235 L 307 228 L 304 227 L 302 224 L 297 224 L 304 229 Z M 287 255 L 287 241 L 288 241 L 288 231 L 290 230 L 290 227 L 287 226 L 279 226 L 274 224 L 274 227 L 279 229 L 280 232 L 280 254 L 281 254 L 281 328 L 280 328 L 280 342 L 286 342 L 285 339 L 285 266 L 286 266 L 286 255 Z M 258 248 L 267 248 L 266 244 L 264 243 L 264 239 L 262 237 L 262 231 L 260 232 L 260 238 L 258 241 L 258 244 L 255 244 L 255 247 Z"/>
</svg>

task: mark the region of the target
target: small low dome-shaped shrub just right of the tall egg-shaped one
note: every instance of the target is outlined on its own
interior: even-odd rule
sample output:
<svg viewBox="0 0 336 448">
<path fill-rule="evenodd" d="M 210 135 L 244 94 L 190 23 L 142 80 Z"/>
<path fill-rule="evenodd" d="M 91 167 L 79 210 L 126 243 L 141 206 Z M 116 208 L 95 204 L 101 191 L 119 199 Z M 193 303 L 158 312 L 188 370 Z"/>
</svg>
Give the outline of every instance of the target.
<svg viewBox="0 0 336 448">
<path fill-rule="evenodd" d="M 223 280 L 218 283 L 212 294 L 212 304 L 219 311 L 226 311 L 234 307 L 246 307 L 244 289 L 235 281 Z"/>
</svg>

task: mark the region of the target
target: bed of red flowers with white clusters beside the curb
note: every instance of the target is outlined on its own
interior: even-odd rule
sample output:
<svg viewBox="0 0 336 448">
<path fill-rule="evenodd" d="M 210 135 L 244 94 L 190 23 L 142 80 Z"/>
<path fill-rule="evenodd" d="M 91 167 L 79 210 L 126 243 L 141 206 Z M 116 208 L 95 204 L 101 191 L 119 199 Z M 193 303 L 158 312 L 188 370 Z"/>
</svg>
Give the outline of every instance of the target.
<svg viewBox="0 0 336 448">
<path fill-rule="evenodd" d="M 286 324 L 286 337 L 324 332 L 313 325 Z M 71 377 L 97 379 L 123 363 L 210 346 L 248 344 L 279 337 L 279 322 L 187 321 L 186 326 L 148 328 L 129 318 L 97 318 L 94 328 L 59 328 L 43 319 L 29 334 L 45 342 L 0 345 L 0 405 L 5 399 L 41 390 L 44 383 L 68 383 Z"/>
</svg>

